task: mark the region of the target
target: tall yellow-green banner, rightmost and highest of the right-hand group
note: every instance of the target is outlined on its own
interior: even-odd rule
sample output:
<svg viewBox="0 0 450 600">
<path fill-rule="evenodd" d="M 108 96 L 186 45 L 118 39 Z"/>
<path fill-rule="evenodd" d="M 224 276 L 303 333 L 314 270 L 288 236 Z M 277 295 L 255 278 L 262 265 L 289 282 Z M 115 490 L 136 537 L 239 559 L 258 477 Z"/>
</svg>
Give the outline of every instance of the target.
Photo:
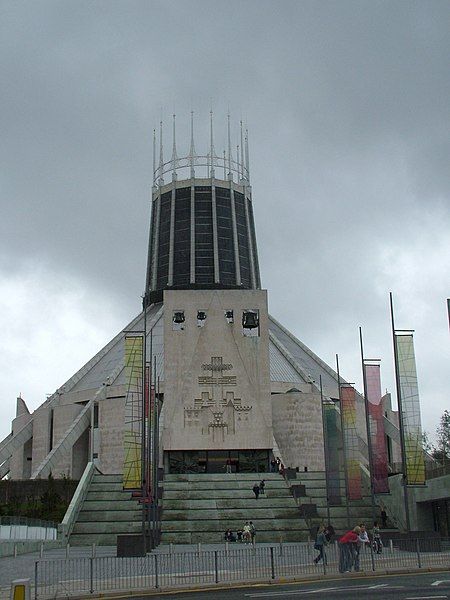
<svg viewBox="0 0 450 600">
<path fill-rule="evenodd" d="M 396 365 L 399 379 L 399 411 L 403 427 L 406 484 L 425 484 L 425 462 L 422 449 L 419 388 L 417 385 L 414 342 L 411 333 L 395 333 Z"/>
</svg>

